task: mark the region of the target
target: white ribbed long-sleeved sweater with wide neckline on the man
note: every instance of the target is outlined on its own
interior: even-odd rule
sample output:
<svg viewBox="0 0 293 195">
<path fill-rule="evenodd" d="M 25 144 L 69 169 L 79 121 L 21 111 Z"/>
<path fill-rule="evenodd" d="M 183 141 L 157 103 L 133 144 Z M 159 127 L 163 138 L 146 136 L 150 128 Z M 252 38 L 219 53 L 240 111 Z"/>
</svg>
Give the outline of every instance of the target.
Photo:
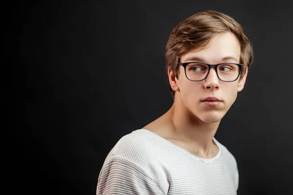
<svg viewBox="0 0 293 195">
<path fill-rule="evenodd" d="M 236 195 L 236 160 L 214 141 L 218 154 L 199 158 L 151 131 L 133 131 L 106 157 L 97 195 Z"/>
</svg>

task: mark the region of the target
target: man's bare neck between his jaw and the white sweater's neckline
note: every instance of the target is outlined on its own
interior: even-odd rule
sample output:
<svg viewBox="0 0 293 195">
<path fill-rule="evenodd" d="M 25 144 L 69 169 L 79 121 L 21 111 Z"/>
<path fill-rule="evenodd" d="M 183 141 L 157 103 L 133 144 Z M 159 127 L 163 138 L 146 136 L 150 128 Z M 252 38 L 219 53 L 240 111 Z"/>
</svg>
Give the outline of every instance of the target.
<svg viewBox="0 0 293 195">
<path fill-rule="evenodd" d="M 178 139 L 192 144 L 193 148 L 197 148 L 197 153 L 209 156 L 215 148 L 212 140 L 220 121 L 206 123 L 190 113 L 184 105 L 180 104 L 182 102 L 174 102 L 166 113 L 169 120 L 171 120 L 173 134 Z"/>
</svg>

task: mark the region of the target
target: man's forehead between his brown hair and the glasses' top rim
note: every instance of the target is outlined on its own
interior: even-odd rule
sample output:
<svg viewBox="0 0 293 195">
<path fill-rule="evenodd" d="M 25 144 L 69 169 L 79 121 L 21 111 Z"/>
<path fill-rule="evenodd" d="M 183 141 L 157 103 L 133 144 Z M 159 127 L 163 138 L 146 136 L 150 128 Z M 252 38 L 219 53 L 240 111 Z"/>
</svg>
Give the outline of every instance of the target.
<svg viewBox="0 0 293 195">
<path fill-rule="evenodd" d="M 215 35 L 205 48 L 191 49 L 181 57 L 181 62 L 201 60 L 206 63 L 219 63 L 230 60 L 235 63 L 240 61 L 241 47 L 239 40 L 233 33 Z"/>
</svg>

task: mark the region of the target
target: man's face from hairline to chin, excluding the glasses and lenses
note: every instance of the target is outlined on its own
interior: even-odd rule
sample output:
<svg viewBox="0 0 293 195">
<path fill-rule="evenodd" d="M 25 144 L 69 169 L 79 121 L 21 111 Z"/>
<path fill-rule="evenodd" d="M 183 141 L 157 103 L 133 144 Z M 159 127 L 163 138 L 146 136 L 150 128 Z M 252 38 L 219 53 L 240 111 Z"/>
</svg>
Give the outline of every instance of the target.
<svg viewBox="0 0 293 195">
<path fill-rule="evenodd" d="M 211 39 L 208 47 L 195 48 L 182 56 L 180 62 L 204 62 L 208 64 L 239 63 L 240 43 L 232 33 L 222 33 Z M 245 76 L 233 82 L 221 81 L 214 68 L 202 81 L 191 81 L 186 78 L 184 67 L 180 66 L 179 78 L 175 78 L 177 90 L 175 98 L 182 101 L 182 105 L 204 122 L 217 122 L 224 117 L 234 103 L 237 92 L 240 92 L 246 80 Z M 206 98 L 217 98 L 220 101 L 205 101 Z"/>
</svg>

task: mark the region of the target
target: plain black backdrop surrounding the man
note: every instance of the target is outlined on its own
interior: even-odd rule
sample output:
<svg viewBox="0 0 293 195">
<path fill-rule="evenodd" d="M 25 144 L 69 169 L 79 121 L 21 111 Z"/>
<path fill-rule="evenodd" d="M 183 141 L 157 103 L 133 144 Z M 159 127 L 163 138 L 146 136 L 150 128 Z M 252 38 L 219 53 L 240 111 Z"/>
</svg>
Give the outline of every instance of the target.
<svg viewBox="0 0 293 195">
<path fill-rule="evenodd" d="M 293 3 L 252 0 L 3 6 L 11 193 L 94 195 L 115 143 L 172 104 L 164 58 L 172 29 L 208 9 L 241 23 L 254 49 L 245 88 L 215 136 L 237 159 L 238 194 L 293 194 Z"/>
</svg>

